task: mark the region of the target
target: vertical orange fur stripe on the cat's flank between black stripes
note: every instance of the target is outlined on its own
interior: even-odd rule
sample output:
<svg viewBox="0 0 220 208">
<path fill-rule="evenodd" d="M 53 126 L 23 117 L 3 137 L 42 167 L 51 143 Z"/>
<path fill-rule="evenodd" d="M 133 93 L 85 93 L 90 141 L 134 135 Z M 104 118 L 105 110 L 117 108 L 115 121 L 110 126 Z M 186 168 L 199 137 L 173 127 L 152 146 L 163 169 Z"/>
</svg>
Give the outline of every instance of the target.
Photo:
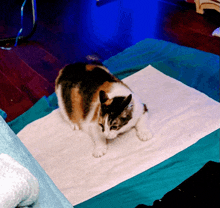
<svg viewBox="0 0 220 208">
<path fill-rule="evenodd" d="M 72 115 L 71 121 L 80 125 L 80 120 L 83 119 L 82 96 L 79 94 L 79 88 L 71 90 Z"/>
</svg>

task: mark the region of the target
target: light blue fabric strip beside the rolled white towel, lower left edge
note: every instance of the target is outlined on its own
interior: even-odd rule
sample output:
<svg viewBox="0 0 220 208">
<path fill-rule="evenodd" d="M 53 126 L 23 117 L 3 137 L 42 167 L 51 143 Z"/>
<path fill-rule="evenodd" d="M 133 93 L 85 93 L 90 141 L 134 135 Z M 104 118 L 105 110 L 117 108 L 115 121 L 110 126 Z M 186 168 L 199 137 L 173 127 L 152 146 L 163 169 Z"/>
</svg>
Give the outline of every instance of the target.
<svg viewBox="0 0 220 208">
<path fill-rule="evenodd" d="M 40 186 L 39 206 L 41 208 L 71 208 L 71 204 L 55 186 L 53 181 L 33 158 L 20 139 L 0 116 L 0 154 L 5 153 L 26 167 Z M 1 184 L 0 184 L 1 186 Z M 0 196 L 1 197 L 1 196 Z"/>
</svg>

